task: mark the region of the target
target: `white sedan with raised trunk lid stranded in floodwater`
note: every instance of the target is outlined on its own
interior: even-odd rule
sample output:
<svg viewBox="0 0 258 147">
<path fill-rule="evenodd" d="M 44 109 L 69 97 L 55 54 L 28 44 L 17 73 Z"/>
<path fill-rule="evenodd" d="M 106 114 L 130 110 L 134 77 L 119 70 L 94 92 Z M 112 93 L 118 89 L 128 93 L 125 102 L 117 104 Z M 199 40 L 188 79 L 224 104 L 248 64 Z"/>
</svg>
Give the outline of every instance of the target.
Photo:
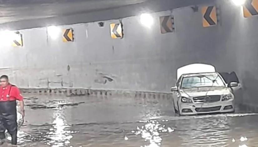
<svg viewBox="0 0 258 147">
<path fill-rule="evenodd" d="M 198 68 L 197 68 L 198 67 Z M 206 71 L 206 72 L 205 72 Z M 215 71 L 215 67 L 205 64 L 192 64 L 177 71 L 178 80 L 173 91 L 175 112 L 179 115 L 234 112 L 235 96 L 231 87 Z"/>
</svg>

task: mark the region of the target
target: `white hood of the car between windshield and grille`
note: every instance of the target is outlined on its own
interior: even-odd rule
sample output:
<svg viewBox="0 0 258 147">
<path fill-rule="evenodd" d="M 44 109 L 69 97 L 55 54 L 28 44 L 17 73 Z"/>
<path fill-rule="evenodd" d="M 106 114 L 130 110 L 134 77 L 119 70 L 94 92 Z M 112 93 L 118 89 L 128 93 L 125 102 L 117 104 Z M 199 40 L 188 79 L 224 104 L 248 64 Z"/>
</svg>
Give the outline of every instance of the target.
<svg viewBox="0 0 258 147">
<path fill-rule="evenodd" d="M 227 95 L 230 94 L 230 88 L 227 87 L 199 87 L 180 90 L 182 96 L 197 97 L 197 96 L 212 96 L 212 95 Z"/>
</svg>

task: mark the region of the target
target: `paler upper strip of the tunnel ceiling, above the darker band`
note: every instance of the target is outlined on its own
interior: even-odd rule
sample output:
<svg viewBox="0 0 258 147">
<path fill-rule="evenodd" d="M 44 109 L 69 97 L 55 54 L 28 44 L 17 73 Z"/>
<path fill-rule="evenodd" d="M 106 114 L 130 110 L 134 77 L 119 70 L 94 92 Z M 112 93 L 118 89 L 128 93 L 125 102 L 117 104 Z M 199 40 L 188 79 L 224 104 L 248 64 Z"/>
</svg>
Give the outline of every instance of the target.
<svg viewBox="0 0 258 147">
<path fill-rule="evenodd" d="M 147 0 L 6 0 L 0 23 L 112 9 Z"/>
</svg>

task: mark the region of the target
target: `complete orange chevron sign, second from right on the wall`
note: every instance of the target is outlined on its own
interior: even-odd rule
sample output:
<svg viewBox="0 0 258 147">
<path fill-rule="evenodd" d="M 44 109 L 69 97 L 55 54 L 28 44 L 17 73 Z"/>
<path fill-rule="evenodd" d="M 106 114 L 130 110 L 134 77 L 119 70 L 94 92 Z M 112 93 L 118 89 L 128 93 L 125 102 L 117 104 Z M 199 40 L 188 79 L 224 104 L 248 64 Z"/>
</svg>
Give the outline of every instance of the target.
<svg viewBox="0 0 258 147">
<path fill-rule="evenodd" d="M 203 27 L 210 27 L 216 25 L 217 22 L 217 13 L 215 6 L 202 7 L 202 25 Z"/>
</svg>

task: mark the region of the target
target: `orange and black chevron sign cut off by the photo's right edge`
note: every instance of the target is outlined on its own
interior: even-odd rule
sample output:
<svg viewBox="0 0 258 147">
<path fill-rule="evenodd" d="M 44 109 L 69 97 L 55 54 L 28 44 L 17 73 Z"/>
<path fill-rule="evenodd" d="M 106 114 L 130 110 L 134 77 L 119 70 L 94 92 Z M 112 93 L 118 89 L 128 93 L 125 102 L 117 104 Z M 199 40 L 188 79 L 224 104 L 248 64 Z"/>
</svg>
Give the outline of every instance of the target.
<svg viewBox="0 0 258 147">
<path fill-rule="evenodd" d="M 243 6 L 244 17 L 258 15 L 258 0 L 247 0 Z"/>
</svg>

